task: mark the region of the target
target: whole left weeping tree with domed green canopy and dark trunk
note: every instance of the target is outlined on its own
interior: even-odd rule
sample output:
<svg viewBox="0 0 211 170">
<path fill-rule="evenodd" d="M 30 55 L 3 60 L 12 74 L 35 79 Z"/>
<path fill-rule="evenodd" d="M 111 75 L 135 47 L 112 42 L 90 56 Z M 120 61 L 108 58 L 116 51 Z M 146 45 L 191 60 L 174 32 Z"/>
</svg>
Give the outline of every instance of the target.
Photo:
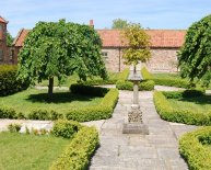
<svg viewBox="0 0 211 170">
<path fill-rule="evenodd" d="M 65 20 L 38 22 L 19 54 L 17 78 L 32 84 L 49 80 L 48 97 L 51 99 L 55 77 L 59 83 L 73 72 L 82 80 L 92 76 L 106 78 L 101 47 L 101 38 L 91 26 Z"/>
</svg>

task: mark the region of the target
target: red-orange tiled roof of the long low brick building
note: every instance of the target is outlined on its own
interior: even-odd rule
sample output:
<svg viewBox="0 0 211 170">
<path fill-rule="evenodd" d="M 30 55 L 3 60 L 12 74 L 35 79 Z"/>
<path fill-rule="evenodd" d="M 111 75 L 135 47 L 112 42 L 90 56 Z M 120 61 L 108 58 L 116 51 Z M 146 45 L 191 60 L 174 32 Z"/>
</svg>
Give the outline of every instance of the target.
<svg viewBox="0 0 211 170">
<path fill-rule="evenodd" d="M 23 46 L 25 36 L 30 30 L 21 30 L 14 46 Z M 151 37 L 151 47 L 180 47 L 185 41 L 186 31 L 177 30 L 146 30 L 146 34 Z M 97 30 L 103 47 L 121 47 L 121 38 L 119 30 Z"/>
</svg>

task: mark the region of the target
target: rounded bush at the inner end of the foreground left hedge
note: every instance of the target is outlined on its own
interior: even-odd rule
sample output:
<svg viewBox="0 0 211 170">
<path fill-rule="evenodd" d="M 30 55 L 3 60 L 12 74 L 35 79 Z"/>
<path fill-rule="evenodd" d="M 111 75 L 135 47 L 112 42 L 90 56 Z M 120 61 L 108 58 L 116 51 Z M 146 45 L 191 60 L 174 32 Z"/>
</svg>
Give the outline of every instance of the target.
<svg viewBox="0 0 211 170">
<path fill-rule="evenodd" d="M 59 120 L 54 123 L 51 133 L 57 137 L 71 138 L 81 127 L 78 122 Z"/>
</svg>

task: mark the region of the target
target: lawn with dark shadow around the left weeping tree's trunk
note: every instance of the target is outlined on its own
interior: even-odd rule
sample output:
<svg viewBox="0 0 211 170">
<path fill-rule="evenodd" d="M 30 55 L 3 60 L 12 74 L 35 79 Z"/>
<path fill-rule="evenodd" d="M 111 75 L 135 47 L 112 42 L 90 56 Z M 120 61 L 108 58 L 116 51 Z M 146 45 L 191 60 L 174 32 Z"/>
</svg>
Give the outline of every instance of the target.
<svg viewBox="0 0 211 170">
<path fill-rule="evenodd" d="M 71 109 L 99 104 L 103 98 L 73 94 L 69 91 L 54 91 L 48 100 L 47 90 L 28 89 L 13 95 L 1 97 L 0 105 L 14 109 L 27 115 L 33 110 L 48 110 L 67 113 Z"/>
</svg>

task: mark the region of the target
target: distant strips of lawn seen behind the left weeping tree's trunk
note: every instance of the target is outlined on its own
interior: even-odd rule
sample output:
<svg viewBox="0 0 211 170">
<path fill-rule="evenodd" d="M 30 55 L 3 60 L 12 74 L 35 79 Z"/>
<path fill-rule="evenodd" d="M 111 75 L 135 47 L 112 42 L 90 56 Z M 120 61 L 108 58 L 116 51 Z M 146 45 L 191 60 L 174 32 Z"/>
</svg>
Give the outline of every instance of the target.
<svg viewBox="0 0 211 170">
<path fill-rule="evenodd" d="M 108 77 L 112 80 L 113 79 L 118 79 L 119 73 L 120 72 L 108 72 Z M 93 79 L 98 80 L 98 79 L 102 79 L 102 78 L 101 77 L 94 77 Z M 79 81 L 79 80 L 80 80 L 79 76 L 77 73 L 74 73 L 72 76 L 67 77 L 67 80 L 61 86 L 62 87 L 70 87 L 72 83 L 77 83 L 77 81 Z M 91 79 L 89 78 L 87 80 L 91 80 Z M 58 79 L 55 78 L 54 86 L 57 87 L 58 84 L 59 84 Z M 48 80 L 44 80 L 40 83 L 37 83 L 37 86 L 46 87 L 46 86 L 48 86 Z"/>
</svg>

